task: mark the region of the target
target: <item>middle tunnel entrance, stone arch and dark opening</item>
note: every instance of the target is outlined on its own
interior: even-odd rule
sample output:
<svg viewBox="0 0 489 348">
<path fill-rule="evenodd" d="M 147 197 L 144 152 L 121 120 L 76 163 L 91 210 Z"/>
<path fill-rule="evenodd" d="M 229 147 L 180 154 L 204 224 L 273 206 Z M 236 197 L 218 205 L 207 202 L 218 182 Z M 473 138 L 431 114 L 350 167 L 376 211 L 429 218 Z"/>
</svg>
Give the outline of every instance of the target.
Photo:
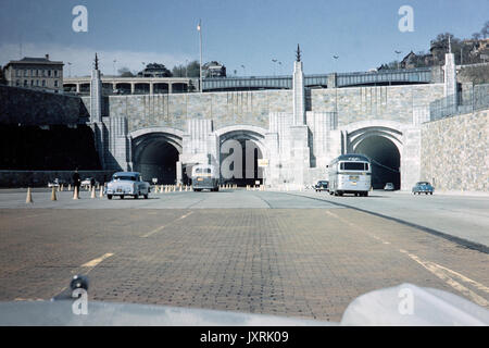
<svg viewBox="0 0 489 348">
<path fill-rule="evenodd" d="M 259 160 L 266 158 L 265 129 L 256 126 L 231 126 L 218 129 L 221 181 L 238 186 L 261 185 L 265 170 Z M 256 184 L 258 183 L 258 184 Z"/>
</svg>

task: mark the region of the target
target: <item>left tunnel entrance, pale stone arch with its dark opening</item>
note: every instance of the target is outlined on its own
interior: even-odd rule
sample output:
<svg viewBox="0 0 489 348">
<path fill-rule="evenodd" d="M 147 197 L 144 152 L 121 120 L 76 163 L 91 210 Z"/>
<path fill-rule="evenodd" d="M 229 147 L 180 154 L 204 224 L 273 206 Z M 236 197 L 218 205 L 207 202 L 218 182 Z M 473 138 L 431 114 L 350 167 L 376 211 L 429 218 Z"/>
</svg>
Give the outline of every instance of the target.
<svg viewBox="0 0 489 348">
<path fill-rule="evenodd" d="M 133 166 L 145 181 L 158 178 L 160 185 L 177 181 L 177 162 L 181 154 L 181 132 L 155 127 L 131 133 Z"/>
</svg>

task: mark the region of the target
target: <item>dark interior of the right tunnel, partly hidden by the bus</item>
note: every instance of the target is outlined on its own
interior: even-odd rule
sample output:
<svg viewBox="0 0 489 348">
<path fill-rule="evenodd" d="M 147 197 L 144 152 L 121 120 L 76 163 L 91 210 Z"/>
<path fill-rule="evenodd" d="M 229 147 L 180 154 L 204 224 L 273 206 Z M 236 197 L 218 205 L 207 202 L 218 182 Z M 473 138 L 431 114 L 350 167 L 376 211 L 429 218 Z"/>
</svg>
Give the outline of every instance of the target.
<svg viewBox="0 0 489 348">
<path fill-rule="evenodd" d="M 356 146 L 354 152 L 365 154 L 372 160 L 374 188 L 384 188 L 386 183 L 392 183 L 396 189 L 401 187 L 401 156 L 390 139 L 383 136 L 367 137 Z"/>
</svg>

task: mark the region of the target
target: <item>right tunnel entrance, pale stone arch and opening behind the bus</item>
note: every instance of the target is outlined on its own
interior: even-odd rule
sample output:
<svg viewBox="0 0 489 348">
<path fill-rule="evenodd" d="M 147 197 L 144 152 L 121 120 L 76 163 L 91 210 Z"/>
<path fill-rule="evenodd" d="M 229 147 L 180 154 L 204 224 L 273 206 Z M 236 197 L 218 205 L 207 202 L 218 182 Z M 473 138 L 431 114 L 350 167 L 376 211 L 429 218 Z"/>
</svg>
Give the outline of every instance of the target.
<svg viewBox="0 0 489 348">
<path fill-rule="evenodd" d="M 386 183 L 401 188 L 402 125 L 396 122 L 363 122 L 348 132 L 348 152 L 365 154 L 372 160 L 372 186 Z M 353 129 L 352 129 L 353 128 Z"/>
</svg>

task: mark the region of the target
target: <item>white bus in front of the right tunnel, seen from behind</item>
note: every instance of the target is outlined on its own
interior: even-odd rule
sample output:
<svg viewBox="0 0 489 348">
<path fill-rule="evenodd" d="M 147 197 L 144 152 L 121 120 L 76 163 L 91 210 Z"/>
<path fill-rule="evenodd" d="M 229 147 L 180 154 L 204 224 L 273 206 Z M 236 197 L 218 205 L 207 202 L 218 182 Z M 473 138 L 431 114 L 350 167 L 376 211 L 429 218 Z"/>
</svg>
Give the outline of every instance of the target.
<svg viewBox="0 0 489 348">
<path fill-rule="evenodd" d="M 371 160 L 356 153 L 347 153 L 337 157 L 328 165 L 329 195 L 368 196 L 372 187 Z"/>
</svg>

